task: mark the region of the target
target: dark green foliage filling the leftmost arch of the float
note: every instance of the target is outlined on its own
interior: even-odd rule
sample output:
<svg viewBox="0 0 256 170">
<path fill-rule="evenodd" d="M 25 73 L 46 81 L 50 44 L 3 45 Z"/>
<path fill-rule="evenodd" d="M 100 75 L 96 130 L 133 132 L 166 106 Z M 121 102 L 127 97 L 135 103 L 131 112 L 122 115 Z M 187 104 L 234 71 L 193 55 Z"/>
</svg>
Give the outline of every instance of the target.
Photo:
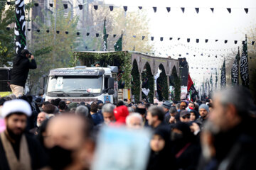
<svg viewBox="0 0 256 170">
<path fill-rule="evenodd" d="M 135 102 L 139 101 L 139 69 L 136 60 L 132 64 L 132 95 L 134 95 Z"/>
</svg>

